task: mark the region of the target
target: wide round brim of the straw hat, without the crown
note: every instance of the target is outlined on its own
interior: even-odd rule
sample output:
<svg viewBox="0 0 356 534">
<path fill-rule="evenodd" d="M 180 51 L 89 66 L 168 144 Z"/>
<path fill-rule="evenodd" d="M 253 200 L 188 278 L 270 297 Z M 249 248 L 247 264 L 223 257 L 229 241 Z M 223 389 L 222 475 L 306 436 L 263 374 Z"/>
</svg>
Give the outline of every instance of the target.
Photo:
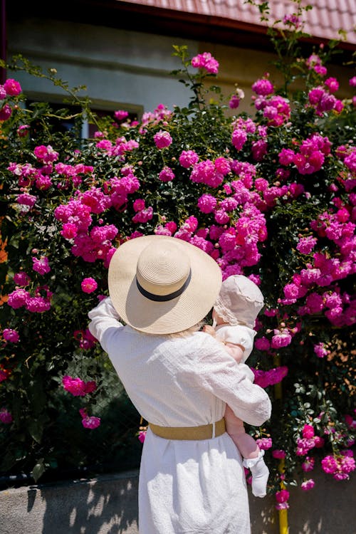
<svg viewBox="0 0 356 534">
<path fill-rule="evenodd" d="M 140 253 L 153 240 L 174 241 L 190 259 L 192 278 L 182 295 L 155 302 L 140 293 L 136 267 Z M 117 248 L 108 273 L 109 294 L 120 318 L 136 330 L 171 334 L 187 330 L 209 313 L 221 287 L 221 270 L 208 254 L 186 241 L 168 236 L 142 236 Z"/>
</svg>

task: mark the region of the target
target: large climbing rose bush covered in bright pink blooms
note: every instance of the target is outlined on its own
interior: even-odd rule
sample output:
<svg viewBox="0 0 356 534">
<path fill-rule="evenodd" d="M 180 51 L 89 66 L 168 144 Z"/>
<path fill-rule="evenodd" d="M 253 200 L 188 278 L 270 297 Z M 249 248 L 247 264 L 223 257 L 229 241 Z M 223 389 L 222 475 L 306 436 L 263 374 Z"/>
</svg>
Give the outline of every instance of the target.
<svg viewBox="0 0 356 534">
<path fill-rule="evenodd" d="M 284 21 L 286 43 L 298 43 L 297 19 Z M 288 508 L 281 481 L 313 488 L 304 473 L 317 461 L 339 480 L 355 469 L 355 99 L 337 98 L 320 47 L 292 54 L 281 87 L 256 80 L 253 115 L 231 117 L 219 88 L 205 98 L 218 61 L 174 48 L 192 88 L 187 108 L 158 105 L 139 122 L 119 110 L 92 140 L 59 132 L 47 105 L 20 106 L 16 80 L 0 88 L 1 470 L 88 463 L 88 436 L 100 431 L 105 451 L 132 443 L 105 434 L 115 377 L 87 313 L 108 295 L 115 248 L 155 233 L 203 249 L 224 278 L 244 273 L 261 287 L 249 363 L 273 415 L 250 431 L 266 449 L 276 506 Z M 238 107 L 236 95 L 230 103 Z"/>
</svg>

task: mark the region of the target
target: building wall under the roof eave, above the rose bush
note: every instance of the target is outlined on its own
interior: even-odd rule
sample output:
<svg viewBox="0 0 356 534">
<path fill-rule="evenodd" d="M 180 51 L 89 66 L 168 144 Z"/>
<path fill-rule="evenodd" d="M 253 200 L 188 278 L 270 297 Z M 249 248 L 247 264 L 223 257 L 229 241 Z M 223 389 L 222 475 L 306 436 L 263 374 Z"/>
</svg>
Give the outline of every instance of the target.
<svg viewBox="0 0 356 534">
<path fill-rule="evenodd" d="M 236 83 L 245 91 L 240 110 L 251 111 L 253 81 L 266 71 L 272 80 L 276 77 L 271 65 L 275 56 L 264 51 L 47 19 L 19 19 L 9 21 L 8 26 L 9 59 L 21 53 L 45 70 L 56 68 L 70 87 L 86 85 L 83 94 L 88 94 L 96 108 L 123 108 L 139 115 L 159 103 L 172 109 L 189 102 L 189 90 L 170 74 L 180 66 L 172 56 L 174 44 L 187 45 L 190 56 L 210 51 L 220 63 L 217 83 L 223 93 L 231 94 Z M 348 78 L 352 69 L 334 67 L 330 75 L 340 79 L 344 88 L 340 96 L 351 96 Z M 61 98 L 61 90 L 48 80 L 23 72 L 16 72 L 16 79 L 31 98 L 53 102 Z"/>
</svg>

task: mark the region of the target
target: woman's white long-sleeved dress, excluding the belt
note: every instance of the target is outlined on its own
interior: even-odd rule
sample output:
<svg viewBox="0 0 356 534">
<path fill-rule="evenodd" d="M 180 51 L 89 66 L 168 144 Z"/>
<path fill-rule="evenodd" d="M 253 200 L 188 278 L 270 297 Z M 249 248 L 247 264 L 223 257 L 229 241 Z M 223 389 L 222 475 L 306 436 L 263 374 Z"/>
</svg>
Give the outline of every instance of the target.
<svg viewBox="0 0 356 534">
<path fill-rule="evenodd" d="M 260 425 L 271 415 L 266 392 L 246 379 L 221 344 L 202 332 L 147 335 L 118 322 L 109 298 L 90 311 L 90 332 L 138 412 L 160 426 L 216 422 L 225 404 Z M 249 534 L 241 456 L 228 434 L 201 441 L 147 431 L 139 483 L 140 534 Z"/>
</svg>

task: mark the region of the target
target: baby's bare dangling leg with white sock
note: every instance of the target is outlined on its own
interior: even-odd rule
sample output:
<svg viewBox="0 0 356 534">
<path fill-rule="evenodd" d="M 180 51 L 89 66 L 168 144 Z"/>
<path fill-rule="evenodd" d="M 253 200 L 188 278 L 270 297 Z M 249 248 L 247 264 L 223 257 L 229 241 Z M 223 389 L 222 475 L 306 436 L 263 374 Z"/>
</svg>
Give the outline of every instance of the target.
<svg viewBox="0 0 356 534">
<path fill-rule="evenodd" d="M 261 451 L 252 436 L 246 434 L 244 422 L 241 421 L 229 406 L 225 409 L 226 431 L 234 441 L 242 456 L 244 466 L 248 467 L 252 475 L 252 493 L 256 497 L 266 495 L 268 481 L 268 467 L 263 460 L 265 451 Z"/>
</svg>

